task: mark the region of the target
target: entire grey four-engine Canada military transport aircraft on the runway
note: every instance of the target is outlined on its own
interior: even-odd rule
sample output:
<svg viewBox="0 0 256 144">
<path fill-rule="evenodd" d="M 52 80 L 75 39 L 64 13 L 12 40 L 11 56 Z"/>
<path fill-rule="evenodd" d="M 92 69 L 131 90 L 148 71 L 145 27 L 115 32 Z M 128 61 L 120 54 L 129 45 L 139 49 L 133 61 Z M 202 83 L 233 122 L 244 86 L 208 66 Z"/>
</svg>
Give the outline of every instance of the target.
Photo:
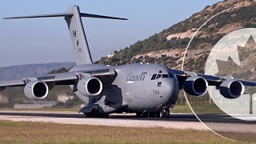
<svg viewBox="0 0 256 144">
<path fill-rule="evenodd" d="M 172 70 L 157 64 L 130 64 L 103 66 L 94 64 L 90 55 L 82 17 L 114 18 L 80 13 L 72 6 L 66 13 L 44 14 L 14 18 L 64 17 L 70 30 L 77 66 L 70 72 L 48 74 L 44 77 L 20 78 L 0 81 L 0 90 L 6 87 L 24 86 L 27 98 L 41 100 L 57 85 L 70 85 L 74 94 L 87 106 L 80 112 L 88 117 L 108 116 L 112 113 L 136 113 L 143 117 L 170 117 L 170 107 L 178 100 L 179 90 L 194 96 L 206 94 L 207 86 L 216 86 L 225 98 L 240 97 L 244 86 L 256 86 L 256 82 L 234 78 L 195 74 Z M 11 19 L 11 18 L 4 18 Z"/>
</svg>

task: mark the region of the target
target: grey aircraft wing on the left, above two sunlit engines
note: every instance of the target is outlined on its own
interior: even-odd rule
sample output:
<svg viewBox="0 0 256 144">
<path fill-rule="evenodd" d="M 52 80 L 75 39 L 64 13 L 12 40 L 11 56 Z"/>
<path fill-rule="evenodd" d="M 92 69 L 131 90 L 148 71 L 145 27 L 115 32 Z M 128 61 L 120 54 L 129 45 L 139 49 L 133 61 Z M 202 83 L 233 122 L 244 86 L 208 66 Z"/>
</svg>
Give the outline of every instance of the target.
<svg viewBox="0 0 256 144">
<path fill-rule="evenodd" d="M 0 81 L 0 90 L 4 90 L 6 87 L 13 86 L 26 86 L 26 83 L 30 81 L 41 81 L 47 84 L 54 85 L 75 85 L 82 77 L 97 77 L 102 80 L 102 83 L 112 83 L 116 77 L 114 68 L 103 68 L 94 70 L 82 70 L 76 72 L 66 72 L 59 74 L 47 74 L 43 77 L 32 78 L 18 78 L 7 81 Z"/>
</svg>

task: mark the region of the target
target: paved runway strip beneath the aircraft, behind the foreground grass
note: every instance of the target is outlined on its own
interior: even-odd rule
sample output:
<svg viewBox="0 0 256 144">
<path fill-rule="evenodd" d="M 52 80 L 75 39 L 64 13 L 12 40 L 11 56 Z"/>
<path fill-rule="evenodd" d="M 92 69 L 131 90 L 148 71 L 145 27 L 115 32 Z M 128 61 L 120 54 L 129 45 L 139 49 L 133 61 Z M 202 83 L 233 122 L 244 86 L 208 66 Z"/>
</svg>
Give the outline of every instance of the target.
<svg viewBox="0 0 256 144">
<path fill-rule="evenodd" d="M 199 118 L 214 131 L 255 133 L 256 122 L 231 118 L 224 114 L 199 114 Z M 181 130 L 209 130 L 194 114 L 171 114 L 166 118 L 136 118 L 135 114 L 110 114 L 110 118 L 85 118 L 74 112 L 0 110 L 0 120 L 14 122 L 54 122 L 93 126 L 162 127 Z"/>
</svg>

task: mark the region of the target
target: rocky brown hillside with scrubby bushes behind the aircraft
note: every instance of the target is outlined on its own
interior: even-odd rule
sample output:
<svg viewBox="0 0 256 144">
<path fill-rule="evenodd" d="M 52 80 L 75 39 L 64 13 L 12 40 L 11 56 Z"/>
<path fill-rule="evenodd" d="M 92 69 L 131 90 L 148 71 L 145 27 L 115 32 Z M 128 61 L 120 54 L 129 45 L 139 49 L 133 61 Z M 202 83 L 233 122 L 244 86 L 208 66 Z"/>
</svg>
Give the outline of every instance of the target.
<svg viewBox="0 0 256 144">
<path fill-rule="evenodd" d="M 206 8 L 159 34 L 118 51 L 113 58 L 102 58 L 98 63 L 123 65 L 144 62 L 159 63 L 180 69 L 182 56 L 190 38 L 200 26 L 215 14 L 229 8 L 239 7 L 219 14 L 207 22 L 196 34 L 190 45 L 185 70 L 203 72 L 208 52 L 224 35 L 246 27 L 256 27 L 256 2 L 254 0 L 226 0 Z"/>
</svg>

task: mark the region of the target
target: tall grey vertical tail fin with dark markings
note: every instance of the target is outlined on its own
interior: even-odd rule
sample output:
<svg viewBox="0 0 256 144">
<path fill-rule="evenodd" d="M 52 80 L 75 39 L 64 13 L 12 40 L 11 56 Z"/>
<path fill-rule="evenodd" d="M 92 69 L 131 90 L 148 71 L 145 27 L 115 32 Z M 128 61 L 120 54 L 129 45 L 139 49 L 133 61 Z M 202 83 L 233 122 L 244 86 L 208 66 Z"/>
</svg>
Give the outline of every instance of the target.
<svg viewBox="0 0 256 144">
<path fill-rule="evenodd" d="M 82 26 L 82 19 L 78 6 L 72 6 L 67 13 L 73 14 L 66 16 L 66 22 L 70 30 L 70 38 L 76 58 L 77 65 L 91 64 L 89 45 L 86 39 L 85 30 Z"/>
</svg>

